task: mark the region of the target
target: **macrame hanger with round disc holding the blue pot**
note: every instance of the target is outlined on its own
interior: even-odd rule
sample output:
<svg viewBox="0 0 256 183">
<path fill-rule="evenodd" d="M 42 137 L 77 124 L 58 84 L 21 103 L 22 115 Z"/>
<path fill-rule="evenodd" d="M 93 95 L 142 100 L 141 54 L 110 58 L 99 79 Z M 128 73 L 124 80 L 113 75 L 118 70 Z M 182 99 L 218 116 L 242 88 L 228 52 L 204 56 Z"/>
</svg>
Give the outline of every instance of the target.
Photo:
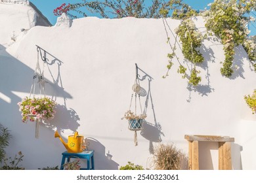
<svg viewBox="0 0 256 183">
<path fill-rule="evenodd" d="M 135 63 L 136 65 L 136 77 L 135 77 L 135 84 L 133 84 L 133 94 L 131 95 L 131 103 L 130 103 L 130 107 L 129 110 L 131 111 L 131 105 L 133 103 L 133 95 L 135 95 L 135 116 L 137 116 L 137 95 L 139 97 L 139 105 L 140 105 L 140 114 L 142 114 L 142 107 L 141 107 L 141 102 L 140 102 L 140 82 L 139 82 L 139 77 L 138 77 L 138 66 L 137 63 Z M 140 131 L 142 129 L 142 122 L 144 121 L 144 119 L 140 119 L 142 121 L 139 120 L 133 120 L 131 122 L 131 120 L 128 123 L 128 129 L 131 131 L 135 131 L 134 134 L 134 142 L 135 142 L 135 146 L 138 145 L 138 140 L 137 140 L 137 131 Z"/>
</svg>

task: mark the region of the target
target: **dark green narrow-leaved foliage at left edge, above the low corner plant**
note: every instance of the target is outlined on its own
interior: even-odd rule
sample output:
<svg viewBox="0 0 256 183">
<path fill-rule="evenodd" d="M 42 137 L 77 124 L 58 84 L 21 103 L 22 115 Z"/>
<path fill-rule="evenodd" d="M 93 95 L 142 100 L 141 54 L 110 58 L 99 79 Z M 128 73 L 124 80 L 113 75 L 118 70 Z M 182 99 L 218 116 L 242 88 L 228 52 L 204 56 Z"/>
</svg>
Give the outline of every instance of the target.
<svg viewBox="0 0 256 183">
<path fill-rule="evenodd" d="M 9 129 L 0 124 L 0 163 L 2 163 L 5 158 L 5 148 L 9 146 L 11 137 Z"/>
</svg>

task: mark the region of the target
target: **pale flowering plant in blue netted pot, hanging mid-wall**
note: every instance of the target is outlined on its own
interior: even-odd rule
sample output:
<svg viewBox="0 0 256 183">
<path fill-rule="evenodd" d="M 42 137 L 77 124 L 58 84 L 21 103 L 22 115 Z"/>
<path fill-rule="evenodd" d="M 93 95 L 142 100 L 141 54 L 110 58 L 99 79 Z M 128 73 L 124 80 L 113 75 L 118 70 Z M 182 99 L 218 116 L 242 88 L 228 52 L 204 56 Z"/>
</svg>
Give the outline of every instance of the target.
<svg viewBox="0 0 256 183">
<path fill-rule="evenodd" d="M 125 112 L 125 115 L 123 116 L 123 118 L 128 120 L 129 129 L 139 130 L 142 128 L 142 122 L 146 118 L 146 114 L 137 115 L 137 114 L 134 114 L 134 112 L 131 112 L 131 110 L 128 110 L 127 112 Z"/>
</svg>

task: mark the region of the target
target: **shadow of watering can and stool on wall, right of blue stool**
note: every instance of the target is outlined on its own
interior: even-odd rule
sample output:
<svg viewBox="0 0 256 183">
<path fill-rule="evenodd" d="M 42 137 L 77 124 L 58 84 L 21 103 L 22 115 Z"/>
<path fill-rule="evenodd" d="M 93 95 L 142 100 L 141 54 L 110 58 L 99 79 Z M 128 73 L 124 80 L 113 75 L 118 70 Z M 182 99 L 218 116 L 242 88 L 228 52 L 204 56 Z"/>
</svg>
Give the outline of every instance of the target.
<svg viewBox="0 0 256 183">
<path fill-rule="evenodd" d="M 89 144 L 89 150 L 95 150 L 95 169 L 96 170 L 117 170 L 119 164 L 112 160 L 112 155 L 99 141 L 87 137 L 86 142 Z"/>
</svg>

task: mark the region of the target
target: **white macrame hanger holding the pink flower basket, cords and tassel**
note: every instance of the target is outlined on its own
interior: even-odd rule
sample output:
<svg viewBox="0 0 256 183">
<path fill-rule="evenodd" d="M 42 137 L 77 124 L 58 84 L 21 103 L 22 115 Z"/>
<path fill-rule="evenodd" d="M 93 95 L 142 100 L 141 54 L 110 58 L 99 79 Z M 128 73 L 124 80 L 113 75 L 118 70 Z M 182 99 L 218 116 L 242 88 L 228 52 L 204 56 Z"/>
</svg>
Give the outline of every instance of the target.
<svg viewBox="0 0 256 183">
<path fill-rule="evenodd" d="M 32 97 L 32 93 L 33 93 L 33 97 L 35 97 L 35 86 L 37 84 L 39 86 L 40 97 L 42 97 L 42 93 L 43 93 L 43 96 L 45 97 L 45 78 L 43 76 L 43 72 L 45 70 L 45 61 L 43 62 L 43 72 L 42 72 L 40 65 L 39 65 L 39 52 L 41 55 L 41 50 L 40 50 L 39 46 L 37 46 L 37 64 L 35 66 L 35 73 L 33 75 L 32 86 L 30 89 L 30 98 Z M 42 55 L 41 55 L 41 57 L 42 57 Z M 36 118 L 36 116 L 33 114 L 30 114 L 30 117 Z M 39 138 L 39 122 L 43 122 L 43 119 L 41 119 L 41 118 L 35 119 L 35 138 L 36 139 Z"/>
</svg>

